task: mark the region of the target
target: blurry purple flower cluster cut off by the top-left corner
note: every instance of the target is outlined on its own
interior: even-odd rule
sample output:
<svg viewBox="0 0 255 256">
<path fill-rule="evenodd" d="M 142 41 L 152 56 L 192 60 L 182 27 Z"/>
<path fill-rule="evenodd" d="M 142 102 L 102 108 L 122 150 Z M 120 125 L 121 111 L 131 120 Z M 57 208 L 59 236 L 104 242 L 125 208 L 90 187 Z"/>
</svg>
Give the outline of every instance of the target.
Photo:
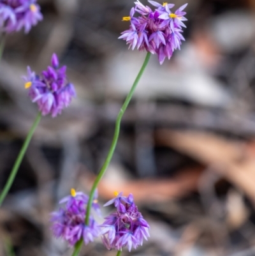
<svg viewBox="0 0 255 256">
<path fill-rule="evenodd" d="M 36 0 L 0 0 L 0 30 L 4 33 L 28 33 L 32 26 L 43 19 Z"/>
</svg>

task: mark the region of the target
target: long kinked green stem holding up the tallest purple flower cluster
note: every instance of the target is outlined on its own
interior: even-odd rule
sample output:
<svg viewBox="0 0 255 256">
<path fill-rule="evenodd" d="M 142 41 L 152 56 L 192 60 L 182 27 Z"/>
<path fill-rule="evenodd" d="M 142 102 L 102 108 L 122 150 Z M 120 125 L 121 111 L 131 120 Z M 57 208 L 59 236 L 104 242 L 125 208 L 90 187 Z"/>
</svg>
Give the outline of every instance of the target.
<svg viewBox="0 0 255 256">
<path fill-rule="evenodd" d="M 133 83 L 133 86 L 131 87 L 131 90 L 129 91 L 128 96 L 126 97 L 126 100 L 123 103 L 123 105 L 122 105 L 122 107 L 121 107 L 121 109 L 119 111 L 119 114 L 117 116 L 116 123 L 115 123 L 115 132 L 114 132 L 114 135 L 113 135 L 113 140 L 112 140 L 112 144 L 110 146 L 110 150 L 109 150 L 108 155 L 106 157 L 105 163 L 103 164 L 103 167 L 101 168 L 98 176 L 96 177 L 96 180 L 94 181 L 94 184 L 93 184 L 93 186 L 91 188 L 91 193 L 89 194 L 89 202 L 87 204 L 87 213 L 86 213 L 86 218 L 85 218 L 86 225 L 89 225 L 89 216 L 91 214 L 91 206 L 92 206 L 92 201 L 93 201 L 93 198 L 94 198 L 94 193 L 96 191 L 96 188 L 98 186 L 99 181 L 101 181 L 103 175 L 105 174 L 106 169 L 107 169 L 110 161 L 112 160 L 112 156 L 113 156 L 113 153 L 115 151 L 117 140 L 119 138 L 121 118 L 122 118 L 125 110 L 128 107 L 128 104 L 129 104 L 129 102 L 130 102 L 130 100 L 131 100 L 131 98 L 133 96 L 133 93 L 134 93 L 134 91 L 136 89 L 136 86 L 137 86 L 139 80 L 141 79 L 141 77 L 143 75 L 143 72 L 144 72 L 147 64 L 149 63 L 149 59 L 150 59 L 150 52 L 147 53 L 147 55 L 145 57 L 145 60 L 143 62 L 142 68 L 140 69 L 140 72 L 138 73 L 138 75 L 137 75 L 137 77 L 135 79 L 135 82 Z"/>
</svg>

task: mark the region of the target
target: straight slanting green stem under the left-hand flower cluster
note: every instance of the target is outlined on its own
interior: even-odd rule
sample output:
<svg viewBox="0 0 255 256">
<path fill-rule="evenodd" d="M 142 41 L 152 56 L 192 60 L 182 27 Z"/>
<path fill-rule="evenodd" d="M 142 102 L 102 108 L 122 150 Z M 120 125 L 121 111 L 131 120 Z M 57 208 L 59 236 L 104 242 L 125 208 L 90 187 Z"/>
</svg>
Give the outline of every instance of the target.
<svg viewBox="0 0 255 256">
<path fill-rule="evenodd" d="M 34 131 L 36 130 L 36 127 L 38 126 L 38 123 L 40 122 L 41 119 L 41 112 L 38 113 L 36 116 L 36 119 L 34 120 L 33 125 L 31 126 L 29 133 L 27 134 L 27 137 L 25 138 L 24 144 L 22 145 L 22 148 L 20 149 L 20 153 L 18 153 L 18 157 L 13 165 L 13 168 L 11 170 L 11 174 L 8 177 L 8 181 L 6 182 L 3 191 L 1 192 L 0 195 L 0 206 L 3 203 L 3 200 L 5 199 L 7 193 L 9 192 L 11 185 L 13 183 L 13 180 L 15 179 L 15 176 L 18 171 L 18 167 L 20 167 L 20 163 L 22 162 L 22 159 L 24 158 L 25 151 L 27 151 L 27 147 L 29 145 L 29 142 L 34 134 Z"/>
</svg>

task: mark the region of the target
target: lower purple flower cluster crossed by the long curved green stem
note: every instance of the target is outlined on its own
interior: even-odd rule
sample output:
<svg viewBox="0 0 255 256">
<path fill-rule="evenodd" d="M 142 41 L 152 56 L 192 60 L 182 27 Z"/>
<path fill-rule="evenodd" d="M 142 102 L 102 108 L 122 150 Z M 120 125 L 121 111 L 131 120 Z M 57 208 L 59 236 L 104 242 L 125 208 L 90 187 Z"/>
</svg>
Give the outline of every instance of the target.
<svg viewBox="0 0 255 256">
<path fill-rule="evenodd" d="M 89 225 L 85 225 L 86 206 L 89 197 L 82 192 L 71 189 L 71 195 L 64 197 L 59 204 L 65 203 L 64 208 L 52 213 L 52 231 L 55 237 L 62 237 L 68 241 L 70 246 L 83 238 L 85 245 L 94 241 L 94 237 L 99 236 L 98 224 L 90 216 Z M 98 212 L 99 205 L 94 199 L 92 207 Z"/>
</svg>

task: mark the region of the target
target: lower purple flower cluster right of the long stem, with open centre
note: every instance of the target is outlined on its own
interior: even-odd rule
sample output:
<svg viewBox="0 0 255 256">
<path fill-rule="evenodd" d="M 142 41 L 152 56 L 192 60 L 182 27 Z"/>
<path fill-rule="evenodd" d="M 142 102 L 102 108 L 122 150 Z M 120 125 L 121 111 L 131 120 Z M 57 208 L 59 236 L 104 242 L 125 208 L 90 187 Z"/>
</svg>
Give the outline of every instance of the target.
<svg viewBox="0 0 255 256">
<path fill-rule="evenodd" d="M 105 204 L 109 206 L 114 203 L 116 211 L 105 218 L 103 227 L 103 244 L 108 250 L 115 248 L 122 250 L 122 247 L 131 248 L 143 244 L 143 238 L 149 237 L 149 224 L 144 220 L 142 214 L 135 205 L 133 195 L 122 196 L 122 193 L 115 193 L 116 197 Z"/>
</svg>

